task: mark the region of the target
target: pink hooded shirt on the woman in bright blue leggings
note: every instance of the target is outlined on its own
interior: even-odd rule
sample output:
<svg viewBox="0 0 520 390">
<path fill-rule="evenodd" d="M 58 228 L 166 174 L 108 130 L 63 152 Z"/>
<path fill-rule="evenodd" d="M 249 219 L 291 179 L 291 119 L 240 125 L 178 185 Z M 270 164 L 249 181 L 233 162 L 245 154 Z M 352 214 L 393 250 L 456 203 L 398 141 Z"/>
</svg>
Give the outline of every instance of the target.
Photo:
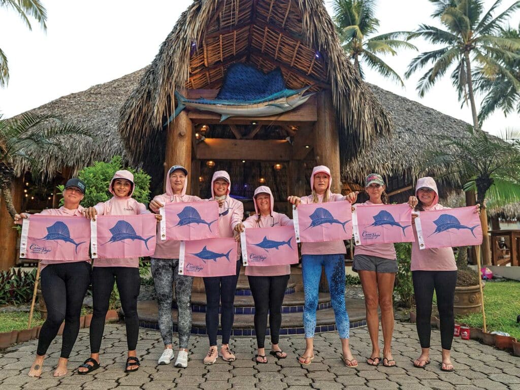
<svg viewBox="0 0 520 390">
<path fill-rule="evenodd" d="M 332 185 L 332 176 L 330 174 L 330 169 L 325 165 L 318 165 L 313 168 L 313 173 L 310 175 L 310 190 L 314 190 L 314 176 L 318 173 L 326 173 L 329 175 L 329 187 L 327 187 L 327 192 L 329 193 L 329 202 L 337 202 L 341 200 L 345 200 L 344 197 L 340 193 L 332 193 L 330 192 L 330 186 Z M 323 202 L 323 196 L 318 196 L 318 203 Z M 313 203 L 313 196 L 308 195 L 306 197 L 300 198 L 302 204 L 310 204 Z M 337 241 L 328 241 L 328 242 L 302 242 L 302 255 L 333 255 L 333 254 L 344 254 L 347 253 L 345 248 L 345 244 L 342 240 Z"/>
</svg>

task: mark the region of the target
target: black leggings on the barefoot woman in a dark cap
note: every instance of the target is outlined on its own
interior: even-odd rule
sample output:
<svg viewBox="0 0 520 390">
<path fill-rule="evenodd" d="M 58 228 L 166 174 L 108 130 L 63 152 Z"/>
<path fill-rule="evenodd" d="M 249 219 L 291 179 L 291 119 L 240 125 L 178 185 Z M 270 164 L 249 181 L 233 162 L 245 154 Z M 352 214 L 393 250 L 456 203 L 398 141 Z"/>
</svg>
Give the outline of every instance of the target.
<svg viewBox="0 0 520 390">
<path fill-rule="evenodd" d="M 41 286 L 47 319 L 40 331 L 36 354 L 43 356 L 47 353 L 65 320 L 60 357 L 69 358 L 80 331 L 81 306 L 90 285 L 90 269 L 89 263 L 76 262 L 50 264 L 42 270 Z"/>
</svg>

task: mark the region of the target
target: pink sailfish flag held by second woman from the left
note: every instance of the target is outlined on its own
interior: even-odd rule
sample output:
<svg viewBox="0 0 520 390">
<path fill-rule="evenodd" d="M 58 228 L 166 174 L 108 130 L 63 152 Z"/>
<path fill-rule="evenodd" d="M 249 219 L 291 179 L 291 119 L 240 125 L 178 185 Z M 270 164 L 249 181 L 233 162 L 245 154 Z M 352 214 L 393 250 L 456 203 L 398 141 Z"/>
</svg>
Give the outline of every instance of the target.
<svg viewBox="0 0 520 390">
<path fill-rule="evenodd" d="M 90 223 L 92 258 L 135 258 L 155 251 L 153 214 L 99 215 Z"/>
</svg>

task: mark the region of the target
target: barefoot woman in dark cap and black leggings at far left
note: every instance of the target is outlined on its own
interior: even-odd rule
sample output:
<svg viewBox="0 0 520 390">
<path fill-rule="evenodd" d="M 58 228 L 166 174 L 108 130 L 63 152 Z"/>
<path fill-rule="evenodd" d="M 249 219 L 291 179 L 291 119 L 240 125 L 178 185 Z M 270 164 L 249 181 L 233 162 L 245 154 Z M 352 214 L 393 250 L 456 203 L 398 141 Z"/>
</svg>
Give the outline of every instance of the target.
<svg viewBox="0 0 520 390">
<path fill-rule="evenodd" d="M 63 206 L 59 209 L 43 210 L 41 215 L 64 215 L 83 217 L 83 207 L 80 202 L 85 196 L 85 183 L 80 179 L 70 179 L 63 190 Z M 22 218 L 29 214 L 15 215 L 15 223 L 20 224 Z M 83 298 L 90 285 L 90 260 L 50 261 L 42 260 L 41 289 L 47 304 L 47 319 L 43 323 L 36 358 L 29 370 L 29 376 L 40 377 L 43 361 L 50 343 L 58 334 L 63 320 L 63 340 L 58 367 L 54 376 L 67 374 L 67 362 L 80 331 L 80 315 Z"/>
</svg>

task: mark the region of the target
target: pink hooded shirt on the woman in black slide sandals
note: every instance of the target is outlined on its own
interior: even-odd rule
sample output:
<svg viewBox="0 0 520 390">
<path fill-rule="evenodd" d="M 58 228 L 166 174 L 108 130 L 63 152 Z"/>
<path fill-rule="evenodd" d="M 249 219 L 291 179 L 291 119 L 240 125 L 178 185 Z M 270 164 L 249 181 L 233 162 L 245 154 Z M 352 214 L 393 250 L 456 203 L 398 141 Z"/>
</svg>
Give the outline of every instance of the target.
<svg viewBox="0 0 520 390">
<path fill-rule="evenodd" d="M 118 197 L 114 192 L 114 181 L 116 179 L 128 180 L 132 188 L 130 193 L 126 197 Z M 134 175 L 132 172 L 123 170 L 117 171 L 110 180 L 108 185 L 109 192 L 113 197 L 106 202 L 99 202 L 94 206 L 98 215 L 136 215 L 136 214 L 150 214 L 150 211 L 146 210 L 146 206 L 139 203 L 132 198 L 134 193 Z M 97 258 L 94 261 L 94 267 L 139 267 L 139 257 L 133 258 Z"/>
</svg>

